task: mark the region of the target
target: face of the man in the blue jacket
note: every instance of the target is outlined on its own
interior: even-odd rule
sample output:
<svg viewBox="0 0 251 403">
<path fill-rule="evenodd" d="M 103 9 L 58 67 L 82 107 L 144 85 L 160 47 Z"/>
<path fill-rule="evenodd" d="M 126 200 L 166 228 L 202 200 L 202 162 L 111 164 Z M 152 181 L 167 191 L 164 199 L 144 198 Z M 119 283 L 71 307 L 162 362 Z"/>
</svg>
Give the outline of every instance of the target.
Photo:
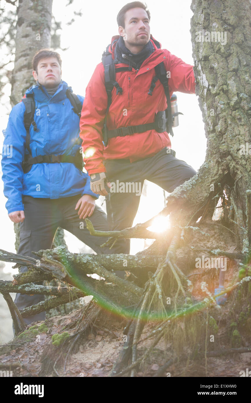
<svg viewBox="0 0 251 403">
<path fill-rule="evenodd" d="M 53 88 L 61 81 L 62 70 L 56 57 L 40 59 L 37 64 L 37 72 L 32 72 L 34 79 L 46 88 Z"/>
</svg>

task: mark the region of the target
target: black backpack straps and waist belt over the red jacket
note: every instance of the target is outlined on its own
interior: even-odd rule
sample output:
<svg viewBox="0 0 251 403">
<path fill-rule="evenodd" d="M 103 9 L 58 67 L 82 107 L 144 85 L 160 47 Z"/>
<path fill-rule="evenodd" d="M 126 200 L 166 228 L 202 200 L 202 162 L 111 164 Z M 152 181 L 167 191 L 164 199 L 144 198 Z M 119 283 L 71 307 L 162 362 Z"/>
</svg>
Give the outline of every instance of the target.
<svg viewBox="0 0 251 403">
<path fill-rule="evenodd" d="M 160 44 L 157 41 L 154 41 L 156 46 L 160 48 Z M 106 109 L 106 116 L 104 119 L 104 128 L 103 128 L 103 137 L 104 137 L 104 145 L 108 145 L 108 139 L 117 136 L 126 136 L 131 135 L 133 133 L 143 133 L 144 131 L 155 129 L 158 133 L 162 133 L 163 131 L 167 131 L 170 135 L 174 135 L 172 131 L 172 118 L 173 116 L 177 116 L 180 112 L 176 112 L 174 115 L 171 113 L 171 101 L 170 101 L 170 93 L 168 87 L 168 77 L 166 76 L 166 69 L 164 62 L 161 62 L 157 66 L 155 66 L 156 76 L 151 82 L 151 86 L 148 91 L 148 95 L 152 95 L 154 88 L 156 87 L 156 81 L 158 79 L 162 83 L 166 95 L 167 101 L 167 109 L 156 114 L 155 121 L 153 123 L 146 123 L 144 125 L 136 125 L 136 126 L 127 126 L 120 127 L 114 130 L 107 129 L 107 114 L 109 108 L 112 103 L 112 89 L 115 87 L 117 89 L 117 95 L 122 93 L 122 88 L 116 82 L 116 72 L 119 71 L 130 71 L 130 67 L 118 67 L 115 69 L 114 60 L 112 58 L 112 54 L 109 52 L 110 45 L 107 46 L 105 52 L 102 54 L 102 63 L 105 70 L 105 86 L 106 93 L 108 96 L 108 105 Z"/>
</svg>

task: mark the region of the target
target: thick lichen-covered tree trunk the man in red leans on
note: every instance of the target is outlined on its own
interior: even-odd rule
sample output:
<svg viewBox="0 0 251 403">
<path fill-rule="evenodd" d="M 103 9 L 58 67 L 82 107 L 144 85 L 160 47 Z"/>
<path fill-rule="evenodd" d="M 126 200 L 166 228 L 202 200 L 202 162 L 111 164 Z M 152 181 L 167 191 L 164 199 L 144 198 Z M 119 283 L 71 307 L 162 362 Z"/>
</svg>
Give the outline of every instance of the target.
<svg viewBox="0 0 251 403">
<path fill-rule="evenodd" d="M 199 186 L 195 200 L 205 201 L 213 193 L 212 185 L 217 189 L 220 183 L 222 190 L 228 185 L 229 218 L 235 224 L 230 223 L 246 253 L 251 241 L 245 194 L 251 189 L 251 4 L 249 0 L 193 0 L 191 9 L 196 94 L 207 153 L 190 193 L 193 199 Z"/>
</svg>

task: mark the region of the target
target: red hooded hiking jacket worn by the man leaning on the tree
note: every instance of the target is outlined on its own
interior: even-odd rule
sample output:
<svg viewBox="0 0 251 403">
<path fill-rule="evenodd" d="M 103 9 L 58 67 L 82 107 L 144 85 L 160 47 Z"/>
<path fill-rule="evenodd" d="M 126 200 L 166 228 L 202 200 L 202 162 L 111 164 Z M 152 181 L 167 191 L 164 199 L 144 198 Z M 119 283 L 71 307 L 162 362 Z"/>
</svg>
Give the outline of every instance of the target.
<svg viewBox="0 0 251 403">
<path fill-rule="evenodd" d="M 112 42 L 118 38 L 118 35 L 112 37 Z M 143 61 L 139 71 L 132 69 L 116 73 L 116 81 L 123 92 L 116 95 L 116 88 L 112 90 L 112 104 L 107 115 L 108 130 L 154 122 L 157 112 L 167 108 L 164 87 L 160 80 L 156 82 L 152 96 L 147 95 L 156 75 L 154 67 L 160 62 L 164 62 L 166 71 L 170 71 L 168 80 L 170 97 L 174 91 L 195 93 L 193 66 L 184 63 L 166 49 L 158 49 L 152 36 L 150 40 L 154 52 Z M 115 46 L 116 42 L 112 48 L 110 46 L 113 58 Z M 115 68 L 126 66 L 128 64 L 119 63 Z M 158 133 L 155 130 L 114 137 L 109 139 L 107 147 L 104 147 L 102 129 L 107 102 L 104 66 L 99 63 L 87 85 L 80 119 L 85 169 L 89 175 L 106 172 L 103 160 L 125 158 L 133 162 L 154 156 L 166 146 L 171 147 L 168 133 L 166 131 Z"/>
</svg>

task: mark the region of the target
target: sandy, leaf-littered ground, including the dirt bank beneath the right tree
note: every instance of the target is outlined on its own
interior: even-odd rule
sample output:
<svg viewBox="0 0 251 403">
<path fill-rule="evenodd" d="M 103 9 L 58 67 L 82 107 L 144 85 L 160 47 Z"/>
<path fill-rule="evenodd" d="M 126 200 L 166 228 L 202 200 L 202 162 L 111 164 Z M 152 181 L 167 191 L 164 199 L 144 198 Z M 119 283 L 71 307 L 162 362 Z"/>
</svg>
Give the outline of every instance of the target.
<svg viewBox="0 0 251 403">
<path fill-rule="evenodd" d="M 195 252 L 196 248 L 220 249 L 237 253 L 235 239 L 229 233 L 228 229 L 212 222 L 205 224 L 200 233 L 194 233 L 190 239 L 185 239 L 185 246 L 176 251 L 176 263 L 186 275 L 189 275 L 193 283 L 191 297 L 193 302 L 202 301 L 206 297 L 201 287 L 205 283 L 207 291 L 214 294 L 214 289 L 218 287 L 218 272 L 212 268 L 198 268 L 195 264 L 189 263 L 195 261 L 195 256 L 201 256 L 202 252 Z M 208 237 L 207 233 L 210 233 Z M 206 250 L 204 249 L 204 250 Z M 184 256 L 187 258 L 184 259 Z M 207 255 L 212 256 L 212 255 Z M 239 261 L 227 258 L 227 270 L 225 274 L 225 287 L 228 287 L 233 280 L 238 280 Z M 218 324 L 217 341 L 214 348 L 210 349 L 230 349 L 236 347 L 231 345 L 230 338 L 227 337 L 226 325 L 228 314 L 233 308 L 235 296 L 230 295 L 226 304 L 220 309 L 213 308 L 214 318 Z M 90 302 L 95 309 L 95 303 Z M 87 305 L 86 305 L 87 306 Z M 85 306 L 85 307 L 86 307 Z M 87 320 L 85 316 L 85 307 L 71 312 L 65 316 L 54 316 L 43 322 L 37 322 L 36 328 L 26 330 L 23 334 L 13 339 L 8 345 L 0 349 L 0 368 L 6 364 L 8 366 L 16 363 L 13 367 L 13 376 L 60 376 L 60 377 L 107 377 L 110 375 L 112 367 L 118 355 L 124 346 L 126 336 L 123 335 L 123 329 L 127 324 L 126 319 L 114 316 L 104 310 L 101 315 L 97 315 L 88 326 L 85 334 L 81 334 L 78 344 L 71 350 L 67 356 L 67 349 L 62 345 L 52 345 L 54 334 L 63 334 L 67 332 L 67 337 L 75 338 L 76 327 L 73 323 Z M 211 313 L 210 313 L 211 314 Z M 249 315 L 250 316 L 250 315 Z M 238 317 L 236 317 L 238 322 Z M 250 320 L 249 320 L 250 322 Z M 248 322 L 248 326 L 249 326 Z M 239 323 L 239 322 L 238 322 Z M 182 334 L 184 326 L 187 326 L 182 320 L 178 322 L 179 332 Z M 46 327 L 43 327 L 46 326 Z M 150 345 L 151 339 L 144 340 L 151 332 L 156 323 L 147 323 L 138 343 L 138 355 L 145 351 Z M 200 330 L 200 328 L 198 327 Z M 198 332 L 199 332 L 198 330 Z M 184 333 L 185 334 L 185 333 Z M 202 333 L 201 333 L 202 334 Z M 250 332 L 244 332 L 241 335 L 239 346 L 250 345 Z M 182 337 L 181 337 L 182 340 Z M 183 338 L 184 340 L 184 338 Z M 217 344 L 217 346 L 216 346 Z M 205 342 L 204 342 L 205 347 Z M 186 352 L 186 346 L 180 346 L 181 354 L 178 361 L 170 365 L 161 376 L 172 377 L 239 377 L 240 371 L 246 371 L 251 368 L 250 353 L 231 353 L 218 357 L 207 357 L 202 353 L 205 348 L 203 344 L 199 348 L 197 357 L 191 358 L 189 348 Z M 201 353 L 200 353 L 201 351 Z M 158 369 L 174 356 L 174 347 L 167 339 L 161 339 L 154 347 L 151 355 L 137 367 L 135 376 L 153 377 Z M 21 366 L 18 366 L 21 363 Z M 56 364 L 55 364 L 56 363 Z M 65 367 L 65 369 L 64 369 Z M 4 368 L 5 369 L 5 368 Z M 12 369 L 12 368 L 11 368 Z M 127 372 L 122 376 L 130 376 Z"/>
</svg>

